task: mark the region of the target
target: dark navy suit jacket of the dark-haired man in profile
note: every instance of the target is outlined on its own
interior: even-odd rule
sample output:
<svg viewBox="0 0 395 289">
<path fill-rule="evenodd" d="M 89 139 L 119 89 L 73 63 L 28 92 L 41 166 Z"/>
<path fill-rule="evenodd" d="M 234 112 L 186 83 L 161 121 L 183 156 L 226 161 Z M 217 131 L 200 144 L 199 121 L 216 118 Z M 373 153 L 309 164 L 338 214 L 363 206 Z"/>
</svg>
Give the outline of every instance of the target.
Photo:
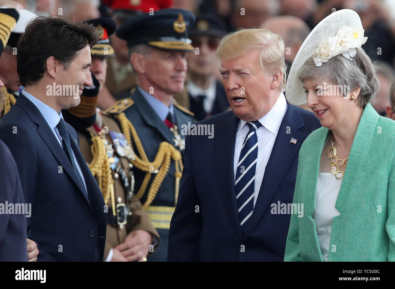
<svg viewBox="0 0 395 289">
<path fill-rule="evenodd" d="M 19 94 L 15 105 L 0 120 L 0 139 L 17 163 L 25 202 L 32 204 L 32 216 L 26 218 L 27 237 L 37 243 L 38 261 L 93 261 L 96 238 L 103 259 L 103 196 L 79 151 L 75 129 L 69 124 L 67 128 L 90 205 L 62 146 L 29 99 Z"/>
</svg>

